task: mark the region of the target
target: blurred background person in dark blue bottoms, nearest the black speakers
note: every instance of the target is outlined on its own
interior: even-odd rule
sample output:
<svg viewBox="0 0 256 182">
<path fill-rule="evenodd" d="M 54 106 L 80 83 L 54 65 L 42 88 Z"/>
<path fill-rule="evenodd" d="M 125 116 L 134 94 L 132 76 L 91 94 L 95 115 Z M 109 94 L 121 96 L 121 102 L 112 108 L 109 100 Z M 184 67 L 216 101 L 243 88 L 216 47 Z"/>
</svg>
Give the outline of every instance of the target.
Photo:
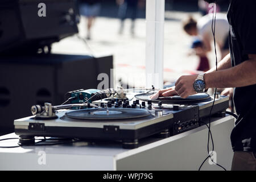
<svg viewBox="0 0 256 182">
<path fill-rule="evenodd" d="M 87 18 L 87 36 L 86 39 L 91 39 L 92 24 L 100 14 L 101 0 L 80 0 L 80 15 Z"/>
</svg>

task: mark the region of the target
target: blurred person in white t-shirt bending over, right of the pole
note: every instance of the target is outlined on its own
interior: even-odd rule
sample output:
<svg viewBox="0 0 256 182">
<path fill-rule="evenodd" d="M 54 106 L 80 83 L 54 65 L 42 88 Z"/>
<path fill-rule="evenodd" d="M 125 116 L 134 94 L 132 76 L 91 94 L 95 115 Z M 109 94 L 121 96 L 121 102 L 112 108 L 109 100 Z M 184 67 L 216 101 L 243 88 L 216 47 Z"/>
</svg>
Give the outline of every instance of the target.
<svg viewBox="0 0 256 182">
<path fill-rule="evenodd" d="M 212 35 L 212 14 L 207 14 L 197 22 L 192 16 L 183 22 L 184 31 L 190 36 L 199 36 L 203 41 L 202 51 L 205 55 L 212 50 L 211 43 L 213 42 Z M 221 51 L 221 59 L 229 53 L 229 22 L 225 14 L 217 13 L 216 15 L 216 43 Z"/>
</svg>

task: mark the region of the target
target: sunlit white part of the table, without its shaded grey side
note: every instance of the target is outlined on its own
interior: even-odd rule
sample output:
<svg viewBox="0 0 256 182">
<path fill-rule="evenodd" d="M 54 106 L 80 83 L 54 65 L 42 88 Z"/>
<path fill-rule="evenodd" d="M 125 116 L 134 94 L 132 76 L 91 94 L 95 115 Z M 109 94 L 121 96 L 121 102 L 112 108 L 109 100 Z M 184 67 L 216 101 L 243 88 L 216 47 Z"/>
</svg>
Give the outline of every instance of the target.
<svg viewBox="0 0 256 182">
<path fill-rule="evenodd" d="M 230 115 L 213 120 L 211 127 L 227 121 L 234 122 L 234 118 Z M 121 143 L 105 141 L 77 142 L 56 146 L 0 148 L 0 170 L 117 170 L 118 160 L 161 147 L 203 130 L 208 131 L 206 126 L 200 126 L 166 139 L 150 137 L 141 140 L 142 146 L 134 149 L 123 149 Z M 4 138 L 18 138 L 18 136 L 12 133 L 0 137 L 0 139 Z M 18 139 L 3 140 L 0 141 L 0 146 L 16 146 L 17 142 Z M 40 151 L 46 154 L 46 164 L 38 163 L 41 157 Z"/>
</svg>

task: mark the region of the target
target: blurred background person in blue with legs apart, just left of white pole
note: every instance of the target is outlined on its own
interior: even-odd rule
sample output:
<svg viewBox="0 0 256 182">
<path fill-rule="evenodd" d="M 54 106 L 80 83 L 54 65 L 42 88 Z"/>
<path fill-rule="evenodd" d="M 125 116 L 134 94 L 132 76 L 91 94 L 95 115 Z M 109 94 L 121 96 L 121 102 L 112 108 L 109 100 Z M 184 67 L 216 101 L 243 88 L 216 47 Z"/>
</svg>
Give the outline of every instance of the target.
<svg viewBox="0 0 256 182">
<path fill-rule="evenodd" d="M 139 0 L 117 0 L 119 5 L 118 17 L 121 20 L 119 34 L 123 34 L 123 28 L 125 26 L 125 19 L 128 17 L 128 13 L 131 16 L 131 35 L 134 35 L 135 19 L 137 18 L 137 9 Z"/>
</svg>

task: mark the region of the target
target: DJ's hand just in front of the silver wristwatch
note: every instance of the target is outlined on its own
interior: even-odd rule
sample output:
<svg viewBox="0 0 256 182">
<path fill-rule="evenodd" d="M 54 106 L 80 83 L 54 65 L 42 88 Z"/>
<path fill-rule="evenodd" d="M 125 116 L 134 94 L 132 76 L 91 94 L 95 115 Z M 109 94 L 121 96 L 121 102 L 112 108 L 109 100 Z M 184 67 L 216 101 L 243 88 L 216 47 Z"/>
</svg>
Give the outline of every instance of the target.
<svg viewBox="0 0 256 182">
<path fill-rule="evenodd" d="M 198 75 L 181 76 L 175 83 L 175 91 L 181 98 L 196 94 L 193 84 Z"/>
</svg>

